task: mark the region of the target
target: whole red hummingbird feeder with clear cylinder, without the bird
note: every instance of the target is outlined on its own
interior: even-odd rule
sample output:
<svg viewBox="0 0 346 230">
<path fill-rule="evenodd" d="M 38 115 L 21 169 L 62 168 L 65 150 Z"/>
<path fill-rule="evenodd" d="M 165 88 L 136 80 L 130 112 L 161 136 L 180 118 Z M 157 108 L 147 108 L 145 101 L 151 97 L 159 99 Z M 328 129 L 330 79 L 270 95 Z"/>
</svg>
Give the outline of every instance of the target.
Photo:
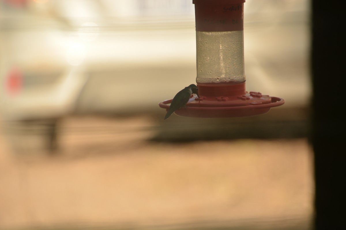
<svg viewBox="0 0 346 230">
<path fill-rule="evenodd" d="M 284 100 L 260 92 L 245 91 L 245 0 L 192 0 L 195 4 L 197 87 L 182 117 L 227 118 L 266 113 Z M 169 109 L 172 99 L 159 103 Z"/>
</svg>

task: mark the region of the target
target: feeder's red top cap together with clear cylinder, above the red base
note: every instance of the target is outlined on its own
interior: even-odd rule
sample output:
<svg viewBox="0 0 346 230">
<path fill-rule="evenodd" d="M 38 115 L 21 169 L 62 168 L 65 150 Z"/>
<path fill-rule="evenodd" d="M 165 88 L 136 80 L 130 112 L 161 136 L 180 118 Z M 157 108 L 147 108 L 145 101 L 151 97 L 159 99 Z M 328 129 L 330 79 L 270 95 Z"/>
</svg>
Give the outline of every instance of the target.
<svg viewBox="0 0 346 230">
<path fill-rule="evenodd" d="M 245 82 L 245 0 L 193 0 L 196 14 L 197 84 Z"/>
</svg>

